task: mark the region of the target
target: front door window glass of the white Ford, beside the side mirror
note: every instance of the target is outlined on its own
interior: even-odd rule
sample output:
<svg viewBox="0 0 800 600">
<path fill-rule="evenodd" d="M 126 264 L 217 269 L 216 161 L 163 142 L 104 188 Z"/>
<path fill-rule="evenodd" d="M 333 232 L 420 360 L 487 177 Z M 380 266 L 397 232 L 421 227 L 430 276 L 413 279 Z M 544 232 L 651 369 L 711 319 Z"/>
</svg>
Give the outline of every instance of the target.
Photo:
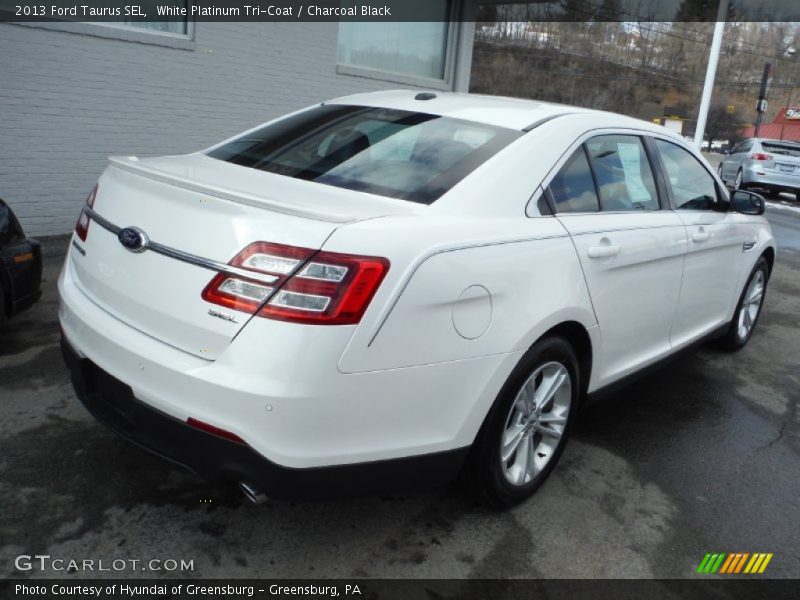
<svg viewBox="0 0 800 600">
<path fill-rule="evenodd" d="M 666 169 L 675 207 L 685 210 L 713 210 L 717 206 L 717 185 L 711 174 L 692 154 L 676 144 L 656 140 Z"/>
</svg>

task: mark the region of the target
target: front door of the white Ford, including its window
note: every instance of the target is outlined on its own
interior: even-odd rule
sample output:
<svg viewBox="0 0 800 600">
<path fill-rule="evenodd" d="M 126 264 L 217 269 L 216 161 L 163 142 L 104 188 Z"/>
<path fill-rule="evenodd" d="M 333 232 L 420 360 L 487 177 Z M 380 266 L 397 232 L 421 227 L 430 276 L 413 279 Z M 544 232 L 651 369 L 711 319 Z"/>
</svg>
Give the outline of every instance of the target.
<svg viewBox="0 0 800 600">
<path fill-rule="evenodd" d="M 742 252 L 751 232 L 735 213 L 716 179 L 687 148 L 654 143 L 675 214 L 686 227 L 688 245 L 678 308 L 670 340 L 675 347 L 722 325 L 736 299 Z"/>
</svg>

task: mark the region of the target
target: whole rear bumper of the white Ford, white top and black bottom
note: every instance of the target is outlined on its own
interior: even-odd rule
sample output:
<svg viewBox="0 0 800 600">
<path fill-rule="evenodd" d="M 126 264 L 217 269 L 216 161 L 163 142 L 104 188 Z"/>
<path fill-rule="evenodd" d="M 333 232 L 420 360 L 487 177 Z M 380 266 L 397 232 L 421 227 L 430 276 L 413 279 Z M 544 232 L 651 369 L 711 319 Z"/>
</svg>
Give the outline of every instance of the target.
<svg viewBox="0 0 800 600">
<path fill-rule="evenodd" d="M 171 448 L 161 448 L 167 443 L 161 438 L 173 434 L 148 435 L 137 442 L 210 476 L 230 478 L 230 471 L 256 479 L 256 471 L 263 471 L 258 479 L 288 481 L 291 488 L 294 476 L 272 473 L 330 467 L 344 469 L 349 478 L 350 473 L 369 472 L 362 467 L 371 464 L 399 469 L 392 475 L 398 488 L 445 481 L 461 466 L 519 360 L 520 353 L 514 352 L 342 373 L 337 360 L 349 340 L 347 330 L 269 319 L 253 319 L 219 357 L 204 360 L 136 330 L 95 304 L 74 279 L 70 260 L 59 278 L 59 321 L 78 361 L 128 386 L 137 403 L 133 406 L 142 405 L 137 414 L 168 419 L 170 429 L 183 430 L 193 418 L 231 432 L 247 444 L 244 462 L 261 465 L 234 469 L 216 461 L 216 451 L 177 456 Z M 214 437 L 193 428 L 175 437 L 189 434 L 197 440 Z M 241 452 L 234 450 L 237 456 Z M 411 471 L 415 475 L 408 481 L 404 473 Z M 374 474 L 368 478 L 375 478 L 375 485 L 357 491 L 386 487 L 378 485 Z"/>
</svg>

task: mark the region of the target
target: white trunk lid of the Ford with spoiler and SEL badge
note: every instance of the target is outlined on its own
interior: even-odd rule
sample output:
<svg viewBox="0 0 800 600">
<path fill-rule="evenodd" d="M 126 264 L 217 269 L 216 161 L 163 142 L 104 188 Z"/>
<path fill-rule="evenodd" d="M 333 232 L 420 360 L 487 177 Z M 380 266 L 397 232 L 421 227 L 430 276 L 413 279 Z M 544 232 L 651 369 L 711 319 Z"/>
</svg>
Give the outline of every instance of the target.
<svg viewBox="0 0 800 600">
<path fill-rule="evenodd" d="M 199 154 L 112 158 L 94 204 L 116 227 L 136 227 L 153 243 L 220 263 L 256 241 L 319 249 L 337 227 L 413 210 L 411 203 Z M 215 271 L 150 250 L 131 252 L 99 221 L 85 242 L 73 238 L 68 260 L 76 285 L 96 304 L 196 356 L 217 358 L 250 318 L 201 298 Z"/>
</svg>

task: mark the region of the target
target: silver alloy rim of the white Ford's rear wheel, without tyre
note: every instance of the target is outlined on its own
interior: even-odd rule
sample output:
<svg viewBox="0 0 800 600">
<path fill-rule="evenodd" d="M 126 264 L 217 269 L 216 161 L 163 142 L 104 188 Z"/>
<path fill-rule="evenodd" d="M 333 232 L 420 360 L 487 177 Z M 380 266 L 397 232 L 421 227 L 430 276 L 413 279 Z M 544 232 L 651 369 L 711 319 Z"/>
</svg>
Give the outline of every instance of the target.
<svg viewBox="0 0 800 600">
<path fill-rule="evenodd" d="M 500 469 L 506 481 L 530 483 L 550 462 L 569 416 L 572 380 L 559 362 L 538 367 L 517 392 L 500 444 Z"/>
</svg>

